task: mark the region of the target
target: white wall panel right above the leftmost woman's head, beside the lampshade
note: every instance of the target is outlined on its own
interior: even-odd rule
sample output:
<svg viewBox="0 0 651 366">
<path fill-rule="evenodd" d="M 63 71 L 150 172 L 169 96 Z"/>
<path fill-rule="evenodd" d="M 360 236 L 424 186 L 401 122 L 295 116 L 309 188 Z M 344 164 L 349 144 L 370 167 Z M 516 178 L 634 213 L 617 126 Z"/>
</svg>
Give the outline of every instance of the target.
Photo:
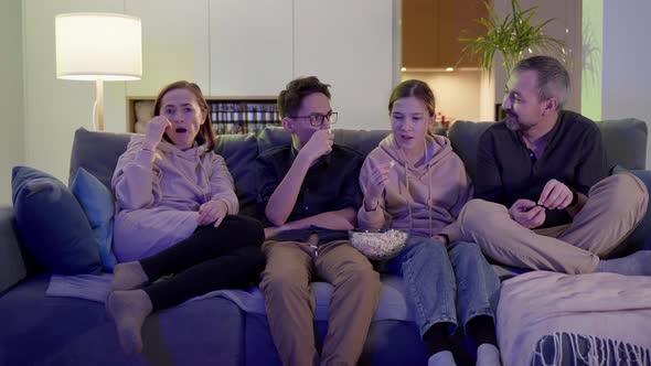
<svg viewBox="0 0 651 366">
<path fill-rule="evenodd" d="M 126 0 L 126 13 L 142 20 L 142 79 L 127 95 L 156 96 L 181 79 L 209 94 L 209 0 Z"/>
</svg>

